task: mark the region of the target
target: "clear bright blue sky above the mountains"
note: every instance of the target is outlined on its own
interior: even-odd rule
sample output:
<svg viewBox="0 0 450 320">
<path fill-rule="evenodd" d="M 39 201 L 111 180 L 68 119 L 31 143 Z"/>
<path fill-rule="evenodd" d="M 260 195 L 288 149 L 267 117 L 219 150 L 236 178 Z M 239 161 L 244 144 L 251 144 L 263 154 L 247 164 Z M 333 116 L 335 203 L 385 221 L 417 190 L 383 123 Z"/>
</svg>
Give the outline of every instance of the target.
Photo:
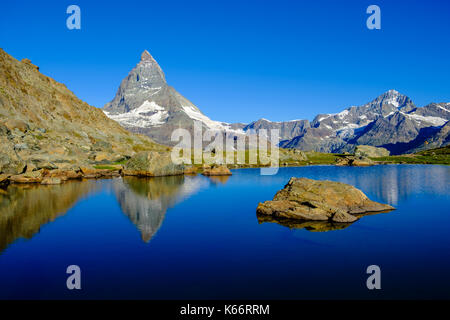
<svg viewBox="0 0 450 320">
<path fill-rule="evenodd" d="M 81 8 L 81 30 L 66 8 Z M 366 8 L 381 8 L 381 30 Z M 450 102 L 450 1 L 2 1 L 0 47 L 96 107 L 148 49 L 214 120 L 312 119 L 396 89 Z"/>
</svg>

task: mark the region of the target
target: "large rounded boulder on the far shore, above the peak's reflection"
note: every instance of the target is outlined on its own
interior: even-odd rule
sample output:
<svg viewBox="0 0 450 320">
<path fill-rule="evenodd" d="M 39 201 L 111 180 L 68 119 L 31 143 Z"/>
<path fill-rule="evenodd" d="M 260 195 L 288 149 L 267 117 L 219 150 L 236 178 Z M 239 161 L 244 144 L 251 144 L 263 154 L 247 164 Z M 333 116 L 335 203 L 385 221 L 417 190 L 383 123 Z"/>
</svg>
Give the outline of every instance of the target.
<svg viewBox="0 0 450 320">
<path fill-rule="evenodd" d="M 175 164 L 170 153 L 143 151 L 134 155 L 124 166 L 126 176 L 174 176 L 184 173 L 182 164 Z"/>
</svg>

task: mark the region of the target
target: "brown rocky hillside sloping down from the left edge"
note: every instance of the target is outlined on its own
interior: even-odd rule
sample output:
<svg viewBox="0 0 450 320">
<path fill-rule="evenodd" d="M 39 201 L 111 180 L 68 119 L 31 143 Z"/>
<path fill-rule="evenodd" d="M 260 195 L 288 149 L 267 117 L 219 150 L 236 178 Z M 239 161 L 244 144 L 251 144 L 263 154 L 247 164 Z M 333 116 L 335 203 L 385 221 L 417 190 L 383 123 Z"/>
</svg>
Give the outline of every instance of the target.
<svg viewBox="0 0 450 320">
<path fill-rule="evenodd" d="M 0 173 L 93 166 L 166 151 L 78 99 L 64 84 L 0 49 Z"/>
</svg>

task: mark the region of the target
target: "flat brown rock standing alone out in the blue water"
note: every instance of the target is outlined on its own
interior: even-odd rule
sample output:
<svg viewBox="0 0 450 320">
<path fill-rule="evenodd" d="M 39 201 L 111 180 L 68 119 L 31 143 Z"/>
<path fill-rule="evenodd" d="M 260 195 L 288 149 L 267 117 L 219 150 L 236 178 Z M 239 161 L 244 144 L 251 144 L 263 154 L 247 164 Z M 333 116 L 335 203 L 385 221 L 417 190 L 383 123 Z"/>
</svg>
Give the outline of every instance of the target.
<svg viewBox="0 0 450 320">
<path fill-rule="evenodd" d="M 345 183 L 291 178 L 272 201 L 260 203 L 256 211 L 275 218 L 351 223 L 358 219 L 355 215 L 393 209 Z"/>
</svg>

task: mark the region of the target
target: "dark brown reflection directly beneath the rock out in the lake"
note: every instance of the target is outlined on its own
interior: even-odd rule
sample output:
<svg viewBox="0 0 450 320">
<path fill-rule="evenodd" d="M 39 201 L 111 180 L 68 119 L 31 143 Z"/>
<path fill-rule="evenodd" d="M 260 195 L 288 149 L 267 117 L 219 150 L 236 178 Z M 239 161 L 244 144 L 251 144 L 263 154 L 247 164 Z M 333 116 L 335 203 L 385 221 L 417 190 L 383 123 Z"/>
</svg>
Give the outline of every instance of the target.
<svg viewBox="0 0 450 320">
<path fill-rule="evenodd" d="M 391 210 L 386 211 L 379 211 L 379 212 L 367 212 L 364 214 L 355 214 L 354 216 L 361 218 L 363 216 L 369 216 L 379 213 L 386 213 L 391 212 Z M 279 225 L 282 225 L 284 227 L 288 227 L 289 229 L 305 229 L 311 232 L 326 232 L 326 231 L 333 231 L 333 230 L 342 230 L 349 226 L 351 226 L 353 223 L 336 223 L 332 221 L 304 221 L 304 220 L 295 220 L 295 219 L 287 219 L 287 218 L 277 218 L 273 216 L 267 216 L 267 215 L 256 215 L 258 218 L 258 222 L 264 223 L 264 222 L 272 222 L 272 223 L 278 223 Z"/>
</svg>

